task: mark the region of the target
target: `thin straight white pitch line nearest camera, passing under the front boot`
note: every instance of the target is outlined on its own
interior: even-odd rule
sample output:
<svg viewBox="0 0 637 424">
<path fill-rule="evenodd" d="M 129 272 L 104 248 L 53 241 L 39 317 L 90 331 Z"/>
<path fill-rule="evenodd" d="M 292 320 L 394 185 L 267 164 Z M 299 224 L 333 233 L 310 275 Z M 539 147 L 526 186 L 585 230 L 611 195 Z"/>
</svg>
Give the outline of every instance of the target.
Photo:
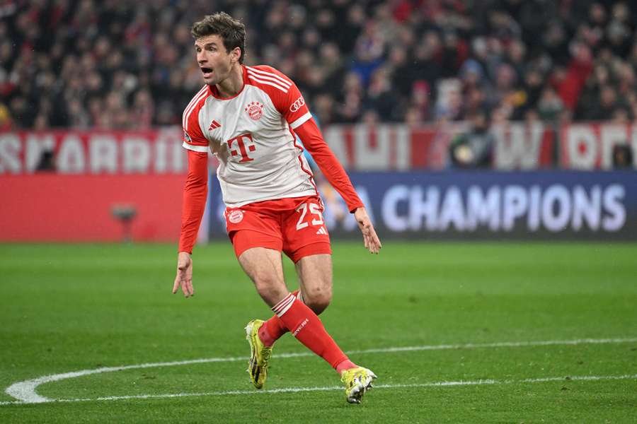
<svg viewBox="0 0 637 424">
<path fill-rule="evenodd" d="M 575 375 L 572 377 L 543 377 L 543 378 L 527 378 L 520 380 L 495 380 L 495 379 L 479 379 L 474 381 L 460 380 L 457 382 L 429 382 L 414 384 L 379 384 L 374 389 L 404 389 L 404 388 L 424 388 L 424 387 L 450 387 L 450 386 L 480 386 L 480 385 L 498 385 L 498 384 L 527 384 L 527 383 L 545 383 L 545 382 L 578 382 L 578 381 L 604 381 L 604 380 L 622 380 L 637 379 L 637 374 L 633 375 Z M 132 396 L 103 396 L 98 398 L 78 398 L 78 399 L 47 399 L 46 403 L 60 402 L 94 402 L 94 401 L 121 401 L 127 399 L 167 399 L 176 397 L 191 396 L 230 396 L 244 394 L 272 394 L 272 393 L 299 393 L 301 391 L 335 391 L 343 390 L 343 387 L 285 387 L 282 389 L 266 389 L 266 390 L 227 390 L 227 391 L 207 391 L 200 393 L 175 393 L 175 394 L 138 394 Z M 0 402 L 0 405 L 26 405 L 27 402 L 8 401 Z"/>
</svg>

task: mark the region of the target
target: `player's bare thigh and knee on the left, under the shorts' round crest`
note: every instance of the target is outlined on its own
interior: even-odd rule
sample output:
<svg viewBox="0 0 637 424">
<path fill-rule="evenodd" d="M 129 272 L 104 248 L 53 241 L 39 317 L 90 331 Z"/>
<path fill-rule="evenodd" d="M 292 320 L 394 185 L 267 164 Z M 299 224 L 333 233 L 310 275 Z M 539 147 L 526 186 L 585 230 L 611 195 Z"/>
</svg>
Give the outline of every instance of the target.
<svg viewBox="0 0 637 424">
<path fill-rule="evenodd" d="M 288 293 L 283 277 L 281 252 L 265 247 L 251 247 L 239 255 L 239 264 L 248 274 L 265 302 L 274 306 Z"/>
</svg>

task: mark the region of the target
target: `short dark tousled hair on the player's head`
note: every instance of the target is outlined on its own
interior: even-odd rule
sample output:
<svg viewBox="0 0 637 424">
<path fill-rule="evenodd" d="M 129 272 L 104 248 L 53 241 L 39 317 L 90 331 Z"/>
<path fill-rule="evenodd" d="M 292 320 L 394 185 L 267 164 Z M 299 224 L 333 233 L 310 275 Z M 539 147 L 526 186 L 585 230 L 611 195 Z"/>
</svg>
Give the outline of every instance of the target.
<svg viewBox="0 0 637 424">
<path fill-rule="evenodd" d="M 246 56 L 246 25 L 243 25 L 241 20 L 225 12 L 206 15 L 199 22 L 193 23 L 190 34 L 195 37 L 195 40 L 206 35 L 219 35 L 224 40 L 226 52 L 231 52 L 236 47 L 241 49 L 239 63 L 243 64 L 243 57 Z"/>
</svg>

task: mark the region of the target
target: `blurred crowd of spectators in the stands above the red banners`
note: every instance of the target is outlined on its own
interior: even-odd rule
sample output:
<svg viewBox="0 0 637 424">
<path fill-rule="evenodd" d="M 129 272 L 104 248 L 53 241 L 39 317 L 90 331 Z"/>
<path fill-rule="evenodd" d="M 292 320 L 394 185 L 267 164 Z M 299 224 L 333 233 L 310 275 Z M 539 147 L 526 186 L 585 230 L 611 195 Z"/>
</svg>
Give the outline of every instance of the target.
<svg viewBox="0 0 637 424">
<path fill-rule="evenodd" d="M 637 119 L 636 1 L 0 0 L 0 129 L 180 124 L 214 11 L 322 124 Z"/>
</svg>

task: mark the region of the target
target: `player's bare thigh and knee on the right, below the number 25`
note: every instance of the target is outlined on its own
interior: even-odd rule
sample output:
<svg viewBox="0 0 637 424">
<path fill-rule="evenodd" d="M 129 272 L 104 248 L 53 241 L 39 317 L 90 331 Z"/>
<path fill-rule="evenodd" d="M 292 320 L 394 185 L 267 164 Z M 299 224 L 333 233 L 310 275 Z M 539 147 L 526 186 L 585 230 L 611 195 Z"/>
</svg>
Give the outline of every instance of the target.
<svg viewBox="0 0 637 424">
<path fill-rule="evenodd" d="M 304 303 L 316 310 L 324 310 L 332 300 L 332 256 L 313 254 L 294 264 L 299 276 Z"/>
</svg>

